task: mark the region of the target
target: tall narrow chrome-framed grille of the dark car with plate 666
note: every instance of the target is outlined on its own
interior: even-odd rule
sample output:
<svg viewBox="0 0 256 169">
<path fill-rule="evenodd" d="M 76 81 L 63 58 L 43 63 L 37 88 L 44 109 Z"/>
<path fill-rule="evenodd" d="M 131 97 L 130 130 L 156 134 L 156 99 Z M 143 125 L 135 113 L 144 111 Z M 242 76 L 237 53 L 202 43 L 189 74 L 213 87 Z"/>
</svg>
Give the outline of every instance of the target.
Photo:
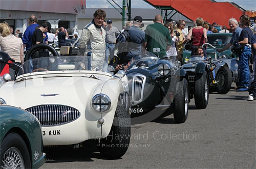
<svg viewBox="0 0 256 169">
<path fill-rule="evenodd" d="M 143 74 L 127 74 L 130 90 L 130 102 L 135 106 L 142 102 L 146 76 Z"/>
</svg>

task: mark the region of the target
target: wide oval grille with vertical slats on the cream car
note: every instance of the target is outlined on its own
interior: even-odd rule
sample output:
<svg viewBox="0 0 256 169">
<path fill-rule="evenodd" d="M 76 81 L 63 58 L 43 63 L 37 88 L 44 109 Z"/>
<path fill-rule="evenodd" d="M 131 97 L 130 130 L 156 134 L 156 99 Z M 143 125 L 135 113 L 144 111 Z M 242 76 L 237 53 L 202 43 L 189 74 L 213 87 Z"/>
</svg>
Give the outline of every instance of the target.
<svg viewBox="0 0 256 169">
<path fill-rule="evenodd" d="M 54 126 L 72 122 L 80 116 L 80 112 L 64 105 L 39 105 L 26 109 L 37 117 L 42 126 Z"/>
</svg>

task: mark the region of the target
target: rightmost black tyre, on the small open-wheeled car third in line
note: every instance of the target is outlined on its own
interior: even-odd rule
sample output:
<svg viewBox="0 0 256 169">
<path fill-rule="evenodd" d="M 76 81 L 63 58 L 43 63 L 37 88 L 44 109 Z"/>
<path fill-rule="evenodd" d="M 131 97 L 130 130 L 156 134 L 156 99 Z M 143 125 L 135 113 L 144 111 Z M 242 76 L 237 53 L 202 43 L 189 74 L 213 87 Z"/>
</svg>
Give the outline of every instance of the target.
<svg viewBox="0 0 256 169">
<path fill-rule="evenodd" d="M 227 94 L 232 85 L 232 75 L 228 67 L 220 67 L 216 74 L 217 92 Z"/>
</svg>

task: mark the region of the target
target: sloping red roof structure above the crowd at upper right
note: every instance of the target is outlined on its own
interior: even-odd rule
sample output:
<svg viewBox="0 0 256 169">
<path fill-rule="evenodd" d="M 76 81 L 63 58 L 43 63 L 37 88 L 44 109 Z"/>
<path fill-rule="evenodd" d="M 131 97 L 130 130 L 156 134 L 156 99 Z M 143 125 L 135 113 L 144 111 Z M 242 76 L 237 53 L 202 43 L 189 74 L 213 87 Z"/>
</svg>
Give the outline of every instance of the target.
<svg viewBox="0 0 256 169">
<path fill-rule="evenodd" d="M 228 20 L 239 21 L 243 11 L 228 2 L 212 2 L 210 0 L 144 0 L 156 8 L 172 7 L 191 20 L 202 17 L 210 24 L 216 22 L 228 27 Z"/>
</svg>

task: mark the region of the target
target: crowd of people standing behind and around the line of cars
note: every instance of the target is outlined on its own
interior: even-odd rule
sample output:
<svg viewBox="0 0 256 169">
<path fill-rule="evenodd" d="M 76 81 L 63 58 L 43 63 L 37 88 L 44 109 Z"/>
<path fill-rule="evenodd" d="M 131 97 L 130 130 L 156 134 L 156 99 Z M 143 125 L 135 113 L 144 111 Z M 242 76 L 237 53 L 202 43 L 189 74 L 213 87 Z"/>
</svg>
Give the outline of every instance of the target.
<svg viewBox="0 0 256 169">
<path fill-rule="evenodd" d="M 8 52 L 16 62 L 23 64 L 23 49 L 28 50 L 37 43 L 54 44 L 56 41 L 58 41 L 59 47 L 61 47 L 66 45 L 66 39 L 72 38 L 76 40 L 80 38 L 78 47 L 82 49 L 82 54 L 88 57 L 89 69 L 106 71 L 106 67 L 103 68 L 104 63 L 106 66 L 109 60 L 114 58 L 116 38 L 124 30 L 129 30 L 129 47 L 126 57 L 120 58 L 120 64 L 128 64 L 133 56 L 149 52 L 159 58 L 163 58 L 165 55 L 176 55 L 182 65 L 184 45 L 192 38 L 191 55 L 198 53 L 202 55 L 203 51 L 204 57 L 207 58 L 206 46 L 202 49 L 198 48 L 198 46 L 207 43 L 207 34 L 232 32 L 230 42 L 222 49 L 218 49 L 218 52 L 229 49 L 235 42 L 243 46 L 243 52 L 236 56 L 239 58 L 239 82 L 237 91 L 247 91 L 250 88 L 250 96 L 255 98 L 255 92 L 252 92 L 255 91 L 255 89 L 252 89 L 252 87 L 255 88 L 255 74 L 251 77 L 248 62 L 251 55 L 253 55 L 254 58 L 256 55 L 255 35 L 253 35 L 256 32 L 256 25 L 250 27 L 251 23 L 248 16 L 242 15 L 239 18 L 239 22 L 234 18 L 230 18 L 228 22 L 230 28 L 224 25 L 222 29 L 216 22 L 210 24 L 204 21 L 203 18 L 198 17 L 194 21 L 194 27 L 188 30 L 188 34 L 184 31 L 186 27 L 184 20 L 178 20 L 176 24 L 174 24 L 175 21 L 173 21 L 172 18 L 164 21 L 161 15 L 156 15 L 154 24 L 147 25 L 146 28 L 143 19 L 140 16 L 136 16 L 132 22 L 127 22 L 123 30 L 120 31 L 113 26 L 114 23 L 111 19 L 105 21 L 105 18 L 105 11 L 101 9 L 95 11 L 92 22 L 85 25 L 81 36 L 79 36 L 76 30 L 71 30 L 72 36 L 70 37 L 70 30 L 64 27 L 53 30 L 49 22 L 38 25 L 36 16 L 32 14 L 28 18 L 29 26 L 24 34 L 20 32 L 20 30 L 16 30 L 14 36 L 12 27 L 8 26 L 6 23 L 1 24 L 0 47 L 2 51 Z M 256 23 L 256 17 L 254 21 Z M 8 31 L 6 31 L 6 25 Z M 9 51 L 11 49 L 10 45 L 13 46 L 12 51 Z M 117 64 L 117 69 L 121 67 L 120 64 L 119 66 Z M 255 63 L 253 65 L 255 66 Z M 248 100 L 253 99 L 248 98 Z"/>
</svg>

